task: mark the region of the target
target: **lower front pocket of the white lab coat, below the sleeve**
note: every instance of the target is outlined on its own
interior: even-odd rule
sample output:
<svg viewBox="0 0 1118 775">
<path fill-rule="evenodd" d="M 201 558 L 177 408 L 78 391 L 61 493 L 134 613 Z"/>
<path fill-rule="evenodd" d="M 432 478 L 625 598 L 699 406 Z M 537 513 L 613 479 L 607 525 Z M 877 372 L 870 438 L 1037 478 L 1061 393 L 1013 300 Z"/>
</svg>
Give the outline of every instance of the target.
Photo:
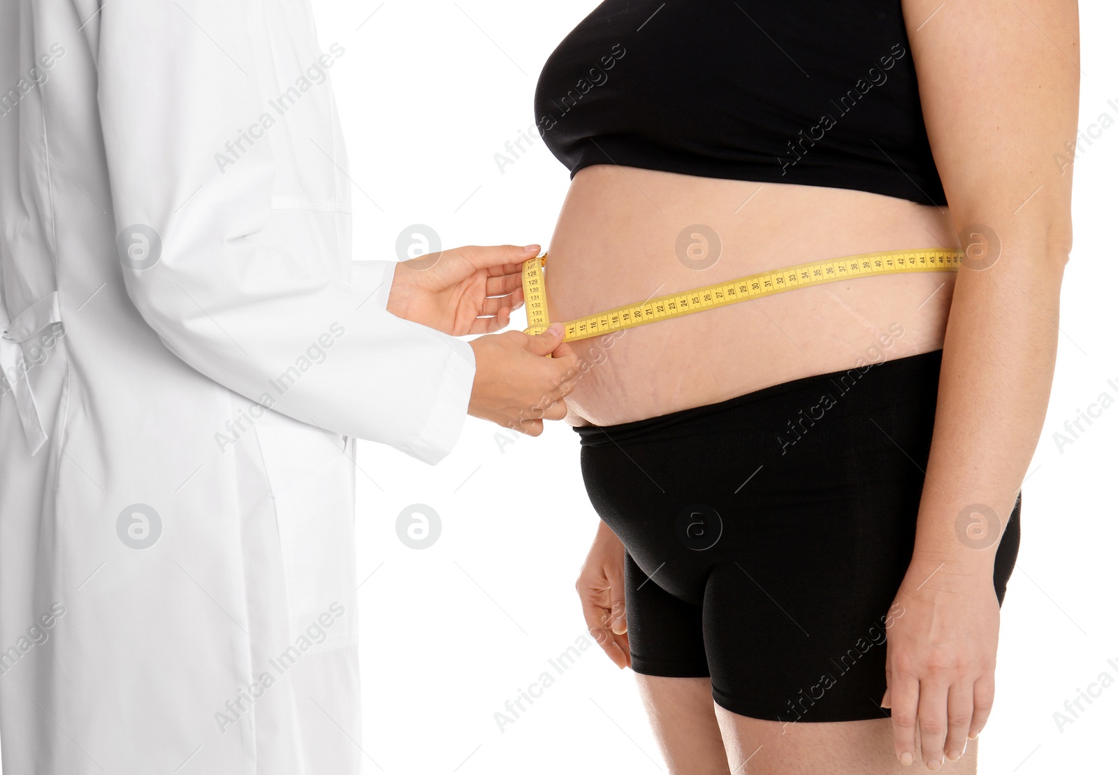
<svg viewBox="0 0 1118 775">
<path fill-rule="evenodd" d="M 255 427 L 275 509 L 291 643 L 303 652 L 351 645 L 358 633 L 354 440 L 275 413 Z"/>
</svg>

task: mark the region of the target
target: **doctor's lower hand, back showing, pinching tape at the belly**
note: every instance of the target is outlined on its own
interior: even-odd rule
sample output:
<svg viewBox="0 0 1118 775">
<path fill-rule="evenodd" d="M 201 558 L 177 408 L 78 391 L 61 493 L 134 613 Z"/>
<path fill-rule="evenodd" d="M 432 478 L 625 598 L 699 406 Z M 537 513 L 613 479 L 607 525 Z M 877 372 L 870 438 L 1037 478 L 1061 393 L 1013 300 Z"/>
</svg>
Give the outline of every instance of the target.
<svg viewBox="0 0 1118 775">
<path fill-rule="evenodd" d="M 534 337 L 506 331 L 472 340 L 476 370 L 468 413 L 529 436 L 543 433 L 544 419 L 566 417 L 563 396 L 575 389 L 579 371 L 562 335 L 562 323 L 556 323 Z"/>
</svg>

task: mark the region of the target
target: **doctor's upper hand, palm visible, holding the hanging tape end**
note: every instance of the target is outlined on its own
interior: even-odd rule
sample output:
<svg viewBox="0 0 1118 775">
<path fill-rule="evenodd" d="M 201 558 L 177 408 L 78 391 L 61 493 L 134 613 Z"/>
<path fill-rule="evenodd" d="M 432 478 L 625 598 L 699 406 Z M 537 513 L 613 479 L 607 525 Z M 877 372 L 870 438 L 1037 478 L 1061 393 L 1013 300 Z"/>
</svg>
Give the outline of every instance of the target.
<svg viewBox="0 0 1118 775">
<path fill-rule="evenodd" d="M 455 247 L 396 265 L 388 311 L 443 333 L 492 333 L 524 303 L 520 270 L 539 245 Z"/>
</svg>

